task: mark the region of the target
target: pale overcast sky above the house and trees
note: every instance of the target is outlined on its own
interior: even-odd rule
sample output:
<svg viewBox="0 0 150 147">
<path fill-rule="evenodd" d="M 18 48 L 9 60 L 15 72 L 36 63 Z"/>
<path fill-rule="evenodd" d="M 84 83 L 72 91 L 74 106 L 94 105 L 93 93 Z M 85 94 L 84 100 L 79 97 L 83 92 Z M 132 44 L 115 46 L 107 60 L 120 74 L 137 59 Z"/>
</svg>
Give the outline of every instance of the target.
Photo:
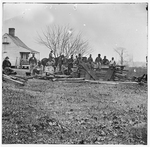
<svg viewBox="0 0 150 147">
<path fill-rule="evenodd" d="M 47 25 L 69 24 L 89 41 L 93 58 L 97 54 L 118 60 L 116 47 L 126 48 L 134 61 L 147 55 L 146 3 L 117 4 L 3 4 L 3 34 L 15 28 L 15 35 L 28 47 L 48 57 L 49 49 L 36 43 Z"/>
</svg>

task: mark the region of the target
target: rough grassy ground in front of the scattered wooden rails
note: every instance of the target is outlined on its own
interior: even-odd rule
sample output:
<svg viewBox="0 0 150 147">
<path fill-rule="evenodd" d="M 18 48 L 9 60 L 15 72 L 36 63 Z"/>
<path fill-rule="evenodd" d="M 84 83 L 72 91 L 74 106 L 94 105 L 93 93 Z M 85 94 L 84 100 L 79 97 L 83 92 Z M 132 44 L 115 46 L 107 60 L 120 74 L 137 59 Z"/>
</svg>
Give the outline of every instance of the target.
<svg viewBox="0 0 150 147">
<path fill-rule="evenodd" d="M 147 86 L 3 82 L 3 144 L 147 144 Z"/>
</svg>

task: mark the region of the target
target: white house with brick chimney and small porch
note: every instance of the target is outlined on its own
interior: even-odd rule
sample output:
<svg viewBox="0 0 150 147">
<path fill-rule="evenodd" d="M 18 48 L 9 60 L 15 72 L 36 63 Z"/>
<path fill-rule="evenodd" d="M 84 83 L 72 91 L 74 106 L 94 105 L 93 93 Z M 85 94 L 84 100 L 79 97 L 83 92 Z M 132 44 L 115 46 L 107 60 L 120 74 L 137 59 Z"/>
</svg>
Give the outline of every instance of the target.
<svg viewBox="0 0 150 147">
<path fill-rule="evenodd" d="M 40 59 L 40 53 L 26 46 L 17 36 L 15 28 L 9 28 L 9 34 L 5 33 L 2 37 L 2 56 L 3 59 L 8 56 L 13 67 L 22 67 L 29 65 L 29 58 L 35 54 L 37 60 Z"/>
</svg>

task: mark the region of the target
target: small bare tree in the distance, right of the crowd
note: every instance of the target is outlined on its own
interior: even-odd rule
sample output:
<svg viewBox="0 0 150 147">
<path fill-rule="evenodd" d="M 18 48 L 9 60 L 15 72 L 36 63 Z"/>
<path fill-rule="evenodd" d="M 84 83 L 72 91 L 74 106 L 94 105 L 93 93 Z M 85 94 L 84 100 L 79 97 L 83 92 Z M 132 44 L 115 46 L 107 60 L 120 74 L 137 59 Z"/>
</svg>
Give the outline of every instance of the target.
<svg viewBox="0 0 150 147">
<path fill-rule="evenodd" d="M 124 65 L 124 63 L 126 63 L 127 61 L 125 60 L 125 57 L 128 56 L 127 51 L 125 48 L 123 47 L 117 47 L 114 48 L 114 51 L 119 55 L 120 57 L 120 64 Z"/>
</svg>

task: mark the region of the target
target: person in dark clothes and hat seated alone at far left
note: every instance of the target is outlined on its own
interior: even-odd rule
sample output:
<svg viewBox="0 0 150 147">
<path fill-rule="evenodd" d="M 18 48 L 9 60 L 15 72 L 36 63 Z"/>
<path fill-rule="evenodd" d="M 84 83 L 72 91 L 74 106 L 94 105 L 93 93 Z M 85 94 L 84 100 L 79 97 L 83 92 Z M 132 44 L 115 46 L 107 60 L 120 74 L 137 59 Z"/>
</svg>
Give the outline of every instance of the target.
<svg viewBox="0 0 150 147">
<path fill-rule="evenodd" d="M 11 69 L 11 63 L 9 61 L 9 57 L 6 57 L 3 61 L 3 74 L 7 74 L 7 75 L 16 75 L 17 73 L 14 72 L 12 69 Z"/>
</svg>

